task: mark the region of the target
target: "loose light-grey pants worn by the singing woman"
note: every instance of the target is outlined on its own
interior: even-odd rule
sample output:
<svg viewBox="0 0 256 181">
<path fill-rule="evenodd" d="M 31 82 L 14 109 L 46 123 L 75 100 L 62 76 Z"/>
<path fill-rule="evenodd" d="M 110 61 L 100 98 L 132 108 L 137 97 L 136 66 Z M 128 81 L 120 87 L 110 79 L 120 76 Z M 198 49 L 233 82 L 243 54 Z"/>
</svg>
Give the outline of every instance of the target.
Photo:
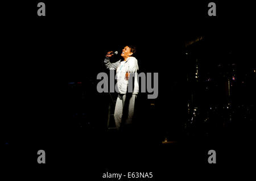
<svg viewBox="0 0 256 181">
<path fill-rule="evenodd" d="M 118 130 L 122 125 L 132 123 L 136 98 L 135 94 L 118 94 L 114 112 L 115 125 Z"/>
</svg>

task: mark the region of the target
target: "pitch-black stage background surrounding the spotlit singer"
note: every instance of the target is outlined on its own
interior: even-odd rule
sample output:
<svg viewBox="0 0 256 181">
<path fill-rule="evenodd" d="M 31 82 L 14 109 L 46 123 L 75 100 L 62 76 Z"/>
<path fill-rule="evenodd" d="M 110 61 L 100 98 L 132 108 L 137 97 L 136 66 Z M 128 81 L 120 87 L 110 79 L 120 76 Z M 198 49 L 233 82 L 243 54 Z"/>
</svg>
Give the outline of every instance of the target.
<svg viewBox="0 0 256 181">
<path fill-rule="evenodd" d="M 1 159 L 8 169 L 73 180 L 108 180 L 101 178 L 106 171 L 153 172 L 148 180 L 253 174 L 256 66 L 249 2 L 214 1 L 217 16 L 208 16 L 210 1 L 44 0 L 46 17 L 36 15 L 38 2 L 2 3 Z M 203 38 L 185 47 L 197 37 Z M 141 72 L 159 73 L 159 96 L 139 96 L 138 131 L 121 137 L 106 127 L 111 99 L 97 92 L 96 77 L 108 72 L 106 52 L 127 44 L 137 46 Z M 191 94 L 201 113 L 189 125 Z M 217 113 L 204 124 L 209 107 Z M 162 144 L 165 138 L 174 143 Z M 39 149 L 46 151 L 45 165 L 36 162 Z M 211 149 L 217 152 L 212 165 Z"/>
</svg>

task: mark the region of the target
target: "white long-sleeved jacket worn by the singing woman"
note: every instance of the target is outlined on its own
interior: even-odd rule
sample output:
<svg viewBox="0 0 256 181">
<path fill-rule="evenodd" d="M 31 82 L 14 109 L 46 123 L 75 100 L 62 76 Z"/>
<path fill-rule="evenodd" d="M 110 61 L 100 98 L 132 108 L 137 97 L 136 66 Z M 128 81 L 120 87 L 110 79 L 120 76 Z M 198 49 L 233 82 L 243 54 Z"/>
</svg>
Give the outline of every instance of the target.
<svg viewBox="0 0 256 181">
<path fill-rule="evenodd" d="M 127 71 L 134 73 L 134 89 L 133 94 L 138 94 L 139 92 L 139 83 L 137 79 L 137 70 L 139 70 L 138 60 L 135 57 L 129 57 L 126 61 L 117 61 L 115 63 L 110 63 L 109 57 L 106 57 L 104 60 L 106 68 L 110 70 L 117 70 L 117 87 L 120 94 L 126 94 L 128 91 L 128 82 L 125 79 L 125 74 Z"/>
</svg>

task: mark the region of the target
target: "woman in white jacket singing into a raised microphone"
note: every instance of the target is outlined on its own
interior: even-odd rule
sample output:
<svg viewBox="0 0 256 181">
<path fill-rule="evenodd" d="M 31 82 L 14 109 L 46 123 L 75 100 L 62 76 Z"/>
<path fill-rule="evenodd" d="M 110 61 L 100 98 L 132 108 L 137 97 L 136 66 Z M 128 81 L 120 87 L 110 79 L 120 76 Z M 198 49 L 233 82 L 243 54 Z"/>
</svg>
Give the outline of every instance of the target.
<svg viewBox="0 0 256 181">
<path fill-rule="evenodd" d="M 136 49 L 133 45 L 127 45 L 122 50 L 123 60 L 119 60 L 115 63 L 110 63 L 110 57 L 113 56 L 113 52 L 108 52 L 104 60 L 106 68 L 110 70 L 117 70 L 117 87 L 118 87 L 118 97 L 115 103 L 114 119 L 115 125 L 118 130 L 125 125 L 131 125 L 135 100 L 139 92 L 139 84 L 137 81 L 137 70 L 139 70 L 138 61 L 133 54 Z M 133 91 L 129 92 L 129 78 L 130 74 L 134 75 L 134 87 Z"/>
</svg>

